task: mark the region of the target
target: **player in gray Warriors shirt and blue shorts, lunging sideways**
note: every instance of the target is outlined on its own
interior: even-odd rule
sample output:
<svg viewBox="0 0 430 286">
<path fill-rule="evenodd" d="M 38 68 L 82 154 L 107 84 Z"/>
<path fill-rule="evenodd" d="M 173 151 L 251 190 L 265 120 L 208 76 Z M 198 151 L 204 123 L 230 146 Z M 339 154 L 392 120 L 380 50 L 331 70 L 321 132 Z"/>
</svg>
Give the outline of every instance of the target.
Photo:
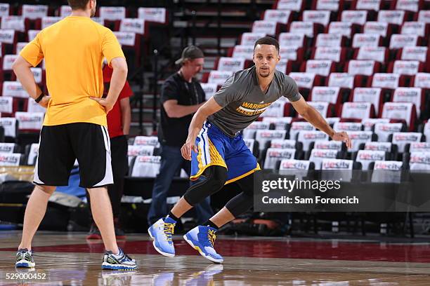
<svg viewBox="0 0 430 286">
<path fill-rule="evenodd" d="M 346 132 L 335 132 L 318 111 L 306 103 L 297 84 L 275 69 L 280 61 L 279 43 L 271 37 L 256 41 L 253 55 L 255 66 L 237 71 L 223 87 L 208 100 L 191 121 L 188 138 L 181 152 L 191 160 L 191 177 L 201 175 L 204 181 L 191 186 L 167 217 L 150 226 L 148 232 L 159 253 L 173 257 L 171 239 L 179 217 L 196 203 L 219 191 L 224 184 L 237 182 L 242 193 L 232 198 L 209 221 L 183 236 L 200 254 L 215 263 L 223 257 L 214 249 L 215 233 L 219 227 L 249 210 L 253 205 L 253 173 L 260 170 L 256 158 L 242 139 L 242 130 L 256 121 L 275 100 L 285 96 L 292 106 L 319 130 L 333 140 L 343 141 L 348 148 L 351 140 Z"/>
</svg>

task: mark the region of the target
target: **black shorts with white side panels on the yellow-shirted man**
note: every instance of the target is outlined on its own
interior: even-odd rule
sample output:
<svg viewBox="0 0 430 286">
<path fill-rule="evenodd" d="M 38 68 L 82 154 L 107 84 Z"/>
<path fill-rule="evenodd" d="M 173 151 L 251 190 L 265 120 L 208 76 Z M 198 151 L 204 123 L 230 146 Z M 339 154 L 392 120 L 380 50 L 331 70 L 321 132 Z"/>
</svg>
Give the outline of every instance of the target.
<svg viewBox="0 0 430 286">
<path fill-rule="evenodd" d="M 79 163 L 82 188 L 113 184 L 107 128 L 93 123 L 43 126 L 34 184 L 68 186 L 74 161 Z"/>
</svg>

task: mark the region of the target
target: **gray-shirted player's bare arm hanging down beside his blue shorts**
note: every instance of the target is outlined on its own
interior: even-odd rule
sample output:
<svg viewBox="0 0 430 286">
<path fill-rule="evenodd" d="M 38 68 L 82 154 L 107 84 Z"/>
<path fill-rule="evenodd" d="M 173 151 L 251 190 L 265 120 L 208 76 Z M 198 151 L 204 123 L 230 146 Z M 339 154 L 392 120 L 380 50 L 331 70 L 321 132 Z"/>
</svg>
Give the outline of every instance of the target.
<svg viewBox="0 0 430 286">
<path fill-rule="evenodd" d="M 216 111 L 222 109 L 221 105 L 219 105 L 214 97 L 211 97 L 207 102 L 205 102 L 202 107 L 197 109 L 197 112 L 193 116 L 193 120 L 191 120 L 190 128 L 188 128 L 188 137 L 185 144 L 181 148 L 181 153 L 183 158 L 186 160 L 191 160 L 191 151 L 195 151 L 197 153 L 197 147 L 195 146 L 195 139 L 197 135 L 199 135 L 200 130 L 202 129 L 202 125 L 204 121 L 206 121 L 207 117 L 211 114 L 214 114 Z"/>
</svg>

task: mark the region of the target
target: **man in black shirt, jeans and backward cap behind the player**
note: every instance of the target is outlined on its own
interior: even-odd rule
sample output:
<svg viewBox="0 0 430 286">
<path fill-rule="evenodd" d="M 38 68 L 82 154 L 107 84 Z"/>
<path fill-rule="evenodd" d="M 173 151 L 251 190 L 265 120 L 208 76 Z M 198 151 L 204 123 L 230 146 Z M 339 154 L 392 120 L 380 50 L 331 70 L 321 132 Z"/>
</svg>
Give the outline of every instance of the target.
<svg viewBox="0 0 430 286">
<path fill-rule="evenodd" d="M 195 46 L 188 46 L 183 50 L 182 57 L 176 61 L 176 64 L 181 64 L 181 69 L 164 81 L 161 91 L 161 124 L 158 134 L 162 161 L 152 189 L 152 203 L 148 212 L 150 225 L 169 212 L 166 198 L 174 175 L 181 168 L 190 175 L 190 161 L 182 157 L 181 147 L 187 139 L 193 114 L 204 102 L 202 86 L 194 78 L 203 68 L 202 50 Z M 213 215 L 209 200 L 197 205 L 195 211 L 199 222 L 204 222 Z"/>
</svg>

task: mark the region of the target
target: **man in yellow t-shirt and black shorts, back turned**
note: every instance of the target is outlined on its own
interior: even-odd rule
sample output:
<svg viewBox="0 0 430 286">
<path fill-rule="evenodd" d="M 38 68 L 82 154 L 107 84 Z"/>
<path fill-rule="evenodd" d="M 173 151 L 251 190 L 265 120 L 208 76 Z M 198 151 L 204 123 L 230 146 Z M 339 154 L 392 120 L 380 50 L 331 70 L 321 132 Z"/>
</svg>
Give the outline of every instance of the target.
<svg viewBox="0 0 430 286">
<path fill-rule="evenodd" d="M 13 64 L 13 71 L 30 97 L 46 107 L 34 170 L 37 186 L 25 210 L 15 266 L 34 267 L 32 238 L 44 217 L 48 198 L 56 186 L 67 186 L 77 159 L 80 186 L 89 191 L 93 219 L 106 249 L 102 268 L 133 270 L 136 261 L 124 254 L 115 240 L 106 188 L 113 183 L 106 114 L 124 86 L 127 64 L 112 31 L 90 18 L 96 12 L 96 0 L 68 3 L 72 14 L 39 32 Z M 106 98 L 102 98 L 104 57 L 113 68 Z M 42 93 L 30 70 L 43 59 L 50 96 Z"/>
</svg>

